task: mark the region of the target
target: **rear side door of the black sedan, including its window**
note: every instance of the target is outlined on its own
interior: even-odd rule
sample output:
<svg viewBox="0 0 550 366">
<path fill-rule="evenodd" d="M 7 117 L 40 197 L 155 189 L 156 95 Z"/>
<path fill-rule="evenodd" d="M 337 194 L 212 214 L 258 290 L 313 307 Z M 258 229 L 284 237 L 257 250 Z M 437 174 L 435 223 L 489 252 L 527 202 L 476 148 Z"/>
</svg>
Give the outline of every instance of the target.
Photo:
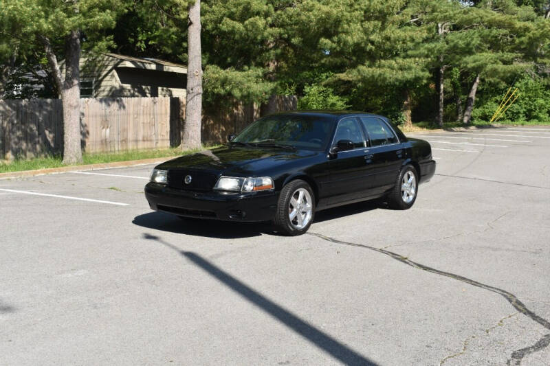
<svg viewBox="0 0 550 366">
<path fill-rule="evenodd" d="M 405 159 L 405 150 L 384 120 L 374 116 L 363 116 L 360 119 L 369 139 L 368 156 L 375 173 L 372 192 L 380 194 L 395 185 Z"/>
</svg>

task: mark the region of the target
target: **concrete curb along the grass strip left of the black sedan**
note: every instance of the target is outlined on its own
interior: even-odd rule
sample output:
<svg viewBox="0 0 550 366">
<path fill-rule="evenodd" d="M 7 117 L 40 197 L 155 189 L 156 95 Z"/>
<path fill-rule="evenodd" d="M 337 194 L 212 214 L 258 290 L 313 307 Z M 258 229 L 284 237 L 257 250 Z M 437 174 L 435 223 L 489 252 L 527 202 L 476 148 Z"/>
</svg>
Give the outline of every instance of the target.
<svg viewBox="0 0 550 366">
<path fill-rule="evenodd" d="M 143 160 L 115 161 L 114 163 L 71 165 L 71 166 L 63 166 L 61 168 L 47 168 L 47 169 L 39 169 L 39 170 L 21 170 L 20 172 L 0 173 L 0 180 L 21 178 L 24 176 L 37 176 L 37 175 L 57 174 L 57 173 L 65 173 L 65 172 L 85 172 L 89 170 L 125 168 L 130 166 L 137 166 L 137 165 L 148 165 L 148 164 L 154 164 L 154 163 L 162 163 L 168 159 L 174 159 L 176 157 L 177 156 L 158 157 L 158 158 L 143 159 Z"/>
</svg>

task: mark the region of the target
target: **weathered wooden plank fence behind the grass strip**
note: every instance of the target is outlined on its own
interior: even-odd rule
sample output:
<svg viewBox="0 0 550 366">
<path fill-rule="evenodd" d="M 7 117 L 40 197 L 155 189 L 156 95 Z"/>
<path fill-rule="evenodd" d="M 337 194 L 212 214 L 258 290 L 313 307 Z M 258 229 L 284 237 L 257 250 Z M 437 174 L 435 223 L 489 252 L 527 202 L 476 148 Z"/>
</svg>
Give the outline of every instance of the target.
<svg viewBox="0 0 550 366">
<path fill-rule="evenodd" d="M 285 108 L 296 108 L 296 97 L 281 98 L 287 104 L 291 101 Z M 115 152 L 179 146 L 184 115 L 185 100 L 180 98 L 82 99 L 83 150 Z M 239 102 L 230 111 L 214 108 L 205 111 L 203 143 L 225 141 L 227 135 L 239 132 L 259 115 L 259 106 Z M 61 100 L 0 100 L 0 160 L 61 155 L 62 152 Z"/>
</svg>

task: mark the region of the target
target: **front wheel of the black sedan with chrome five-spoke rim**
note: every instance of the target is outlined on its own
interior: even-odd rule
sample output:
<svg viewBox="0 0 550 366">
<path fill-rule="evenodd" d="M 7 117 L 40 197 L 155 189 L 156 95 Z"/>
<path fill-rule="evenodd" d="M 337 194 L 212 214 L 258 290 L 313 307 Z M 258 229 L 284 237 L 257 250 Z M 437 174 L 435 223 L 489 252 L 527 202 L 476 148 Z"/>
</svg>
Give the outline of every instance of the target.
<svg viewBox="0 0 550 366">
<path fill-rule="evenodd" d="M 297 179 L 283 187 L 277 204 L 274 223 L 286 235 L 302 235 L 315 216 L 315 198 L 307 182 Z"/>
</svg>

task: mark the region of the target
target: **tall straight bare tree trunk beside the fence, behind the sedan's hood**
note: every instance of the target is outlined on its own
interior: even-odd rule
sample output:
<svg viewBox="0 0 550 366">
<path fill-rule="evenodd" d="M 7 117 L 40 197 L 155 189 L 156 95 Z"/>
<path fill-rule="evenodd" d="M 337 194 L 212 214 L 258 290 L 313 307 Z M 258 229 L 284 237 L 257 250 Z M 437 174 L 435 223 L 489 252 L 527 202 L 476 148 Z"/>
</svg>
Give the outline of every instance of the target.
<svg viewBox="0 0 550 366">
<path fill-rule="evenodd" d="M 202 117 L 202 56 L 201 56 L 201 0 L 189 5 L 188 73 L 182 147 L 201 148 Z"/>
</svg>

